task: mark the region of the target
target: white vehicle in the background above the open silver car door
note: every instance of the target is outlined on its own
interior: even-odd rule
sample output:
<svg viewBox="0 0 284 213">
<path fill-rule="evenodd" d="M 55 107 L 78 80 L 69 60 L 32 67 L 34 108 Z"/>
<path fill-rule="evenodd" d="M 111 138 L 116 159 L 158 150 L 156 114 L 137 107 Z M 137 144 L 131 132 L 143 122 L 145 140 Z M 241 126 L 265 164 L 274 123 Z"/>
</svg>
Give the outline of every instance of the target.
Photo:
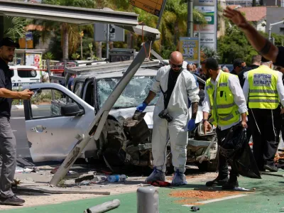
<svg viewBox="0 0 284 213">
<path fill-rule="evenodd" d="M 36 84 L 40 83 L 40 71 L 38 67 L 16 65 L 9 66 L 10 70 L 13 70 L 12 86 L 22 87 L 23 84 Z"/>
</svg>

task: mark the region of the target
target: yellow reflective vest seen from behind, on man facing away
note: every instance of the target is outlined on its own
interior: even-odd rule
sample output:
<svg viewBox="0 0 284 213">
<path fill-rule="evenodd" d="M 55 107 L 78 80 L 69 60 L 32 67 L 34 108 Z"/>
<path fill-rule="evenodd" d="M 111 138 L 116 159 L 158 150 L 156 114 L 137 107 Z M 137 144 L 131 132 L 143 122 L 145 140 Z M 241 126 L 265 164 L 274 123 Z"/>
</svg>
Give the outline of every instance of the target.
<svg viewBox="0 0 284 213">
<path fill-rule="evenodd" d="M 276 109 L 278 107 L 277 71 L 262 65 L 248 72 L 248 81 L 249 108 Z"/>
</svg>

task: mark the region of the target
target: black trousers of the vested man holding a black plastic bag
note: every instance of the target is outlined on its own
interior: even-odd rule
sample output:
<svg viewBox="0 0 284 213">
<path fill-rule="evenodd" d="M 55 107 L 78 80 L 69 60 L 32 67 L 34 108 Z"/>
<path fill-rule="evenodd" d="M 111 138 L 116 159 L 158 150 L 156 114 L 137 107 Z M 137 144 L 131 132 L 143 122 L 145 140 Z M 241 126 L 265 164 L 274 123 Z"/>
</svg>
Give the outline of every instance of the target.
<svg viewBox="0 0 284 213">
<path fill-rule="evenodd" d="M 231 127 L 232 128 L 232 127 Z M 226 138 L 226 135 L 229 133 L 230 129 L 224 129 L 223 131 L 221 129 L 219 129 L 219 127 L 217 127 L 216 133 L 217 133 L 217 143 L 221 144 L 221 141 Z M 219 177 L 220 178 L 226 178 L 228 177 L 228 162 L 226 160 L 226 157 L 224 155 L 222 155 L 219 152 L 218 155 L 218 170 L 219 170 Z M 231 172 L 230 172 L 230 180 L 235 181 L 237 179 L 237 176 L 239 176 L 238 172 L 236 170 L 234 170 L 234 168 L 231 168 Z"/>
</svg>

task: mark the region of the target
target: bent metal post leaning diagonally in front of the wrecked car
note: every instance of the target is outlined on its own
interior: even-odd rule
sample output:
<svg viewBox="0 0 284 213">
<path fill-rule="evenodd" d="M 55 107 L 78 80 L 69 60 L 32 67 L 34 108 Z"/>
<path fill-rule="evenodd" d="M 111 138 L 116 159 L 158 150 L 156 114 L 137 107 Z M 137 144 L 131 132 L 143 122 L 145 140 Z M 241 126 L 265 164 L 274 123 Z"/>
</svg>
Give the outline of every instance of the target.
<svg viewBox="0 0 284 213">
<path fill-rule="evenodd" d="M 87 131 L 85 131 L 85 133 L 82 135 L 76 136 L 78 140 L 77 143 L 75 144 L 74 148 L 72 148 L 72 151 L 70 151 L 70 153 L 67 155 L 62 165 L 60 165 L 60 168 L 58 168 L 53 178 L 50 180 L 50 185 L 58 185 L 60 180 L 65 177 L 68 170 L 70 170 L 71 166 L 73 165 L 73 163 L 75 163 L 75 160 L 82 153 L 82 151 L 87 146 L 92 137 L 94 137 L 95 141 L 99 140 L 99 136 L 102 133 L 104 124 L 107 121 L 109 111 L 114 106 L 117 99 L 119 99 L 121 93 L 124 91 L 126 85 L 129 84 L 133 75 L 135 75 L 135 73 L 137 72 L 138 68 L 142 65 L 144 60 L 148 58 L 148 55 L 151 51 L 152 43 L 156 39 L 160 38 L 160 32 L 154 28 L 142 28 L 141 26 L 137 26 L 133 28 L 133 31 L 138 32 L 138 34 L 140 35 L 143 34 L 147 39 L 146 43 L 143 43 L 138 55 L 131 62 L 131 65 L 129 65 L 123 77 L 121 77 L 121 80 L 119 80 L 119 83 L 116 84 L 116 87 L 111 92 L 106 102 L 104 102 L 102 108 L 99 109 L 98 113 L 94 117 L 94 121 L 92 121 L 92 124 L 89 125 Z"/>
</svg>

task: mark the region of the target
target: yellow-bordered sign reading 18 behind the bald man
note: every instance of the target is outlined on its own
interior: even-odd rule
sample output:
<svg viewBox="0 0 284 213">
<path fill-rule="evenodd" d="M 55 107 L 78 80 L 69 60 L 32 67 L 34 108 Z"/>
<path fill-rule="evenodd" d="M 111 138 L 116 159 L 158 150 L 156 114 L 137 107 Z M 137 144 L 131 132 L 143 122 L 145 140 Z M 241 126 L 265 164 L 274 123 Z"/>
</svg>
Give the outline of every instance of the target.
<svg viewBox="0 0 284 213">
<path fill-rule="evenodd" d="M 180 37 L 180 53 L 185 61 L 200 63 L 200 38 Z"/>
</svg>

